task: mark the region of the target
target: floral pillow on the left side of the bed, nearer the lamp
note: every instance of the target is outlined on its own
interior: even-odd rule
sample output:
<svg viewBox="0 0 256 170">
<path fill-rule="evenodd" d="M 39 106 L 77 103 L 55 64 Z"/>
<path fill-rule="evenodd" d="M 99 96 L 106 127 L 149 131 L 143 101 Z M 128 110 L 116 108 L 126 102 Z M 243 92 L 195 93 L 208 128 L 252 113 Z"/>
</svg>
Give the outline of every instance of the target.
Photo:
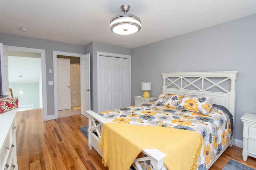
<svg viewBox="0 0 256 170">
<path fill-rule="evenodd" d="M 176 108 L 180 103 L 181 97 L 181 94 L 161 93 L 153 103 Z"/>
</svg>

